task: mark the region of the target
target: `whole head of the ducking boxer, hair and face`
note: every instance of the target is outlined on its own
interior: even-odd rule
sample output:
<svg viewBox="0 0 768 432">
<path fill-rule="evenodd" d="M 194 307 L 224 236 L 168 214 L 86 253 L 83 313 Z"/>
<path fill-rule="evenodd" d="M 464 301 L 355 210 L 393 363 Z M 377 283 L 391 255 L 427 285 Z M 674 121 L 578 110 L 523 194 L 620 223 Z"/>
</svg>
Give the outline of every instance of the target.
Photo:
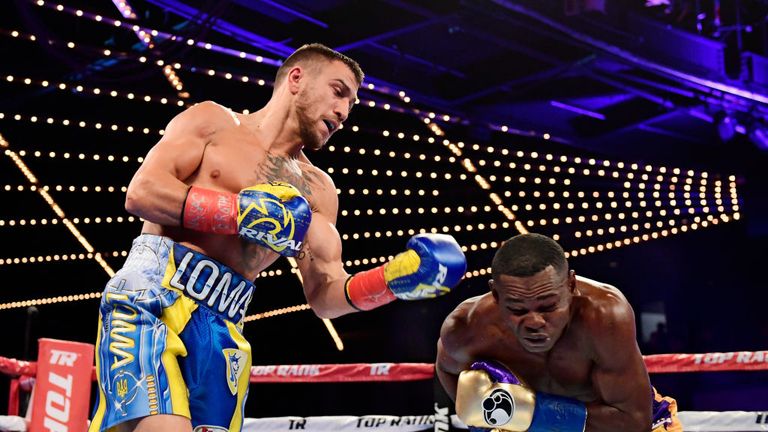
<svg viewBox="0 0 768 432">
<path fill-rule="evenodd" d="M 557 242 L 541 234 L 507 240 L 491 266 L 501 316 L 530 352 L 548 351 L 571 318 L 576 276 Z"/>
</svg>

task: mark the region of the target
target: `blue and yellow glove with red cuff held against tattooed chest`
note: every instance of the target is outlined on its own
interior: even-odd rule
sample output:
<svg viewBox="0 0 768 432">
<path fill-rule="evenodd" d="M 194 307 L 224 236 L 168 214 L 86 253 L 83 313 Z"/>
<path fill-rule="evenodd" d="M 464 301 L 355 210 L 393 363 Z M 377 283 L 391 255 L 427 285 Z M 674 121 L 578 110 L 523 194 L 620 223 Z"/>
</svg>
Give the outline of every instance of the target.
<svg viewBox="0 0 768 432">
<path fill-rule="evenodd" d="M 309 202 L 288 183 L 250 186 L 237 195 L 192 186 L 182 226 L 215 234 L 238 234 L 283 256 L 296 256 L 312 221 Z"/>
</svg>

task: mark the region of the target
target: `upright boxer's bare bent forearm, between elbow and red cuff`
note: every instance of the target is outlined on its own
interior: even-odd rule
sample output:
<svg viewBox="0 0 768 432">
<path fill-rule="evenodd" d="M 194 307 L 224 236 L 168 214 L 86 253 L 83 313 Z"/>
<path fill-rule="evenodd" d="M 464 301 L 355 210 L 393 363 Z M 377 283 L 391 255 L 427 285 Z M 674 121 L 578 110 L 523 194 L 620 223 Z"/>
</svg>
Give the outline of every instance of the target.
<svg viewBox="0 0 768 432">
<path fill-rule="evenodd" d="M 128 186 L 125 209 L 150 222 L 181 225 L 181 210 L 189 187 L 170 174 L 137 175 Z"/>
</svg>

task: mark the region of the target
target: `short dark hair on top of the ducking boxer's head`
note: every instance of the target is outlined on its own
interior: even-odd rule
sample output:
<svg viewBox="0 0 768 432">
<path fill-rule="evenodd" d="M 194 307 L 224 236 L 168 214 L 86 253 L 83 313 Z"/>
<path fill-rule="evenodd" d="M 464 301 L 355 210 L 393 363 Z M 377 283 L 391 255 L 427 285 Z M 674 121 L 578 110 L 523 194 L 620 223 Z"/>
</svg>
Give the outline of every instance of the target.
<svg viewBox="0 0 768 432">
<path fill-rule="evenodd" d="M 542 234 L 520 234 L 505 241 L 491 264 L 491 275 L 529 277 L 552 266 L 557 273 L 568 271 L 563 248 Z"/>
</svg>

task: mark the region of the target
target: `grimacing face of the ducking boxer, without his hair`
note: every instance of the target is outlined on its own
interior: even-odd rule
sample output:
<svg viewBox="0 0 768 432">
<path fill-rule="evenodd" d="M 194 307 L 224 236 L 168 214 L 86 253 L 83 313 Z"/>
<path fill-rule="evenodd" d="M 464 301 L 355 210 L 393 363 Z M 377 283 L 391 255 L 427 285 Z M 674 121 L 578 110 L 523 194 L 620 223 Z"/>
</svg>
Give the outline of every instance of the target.
<svg viewBox="0 0 768 432">
<path fill-rule="evenodd" d="M 549 266 L 529 277 L 501 275 L 490 285 L 520 345 L 529 352 L 552 349 L 570 320 L 573 272 L 558 273 Z"/>
</svg>

